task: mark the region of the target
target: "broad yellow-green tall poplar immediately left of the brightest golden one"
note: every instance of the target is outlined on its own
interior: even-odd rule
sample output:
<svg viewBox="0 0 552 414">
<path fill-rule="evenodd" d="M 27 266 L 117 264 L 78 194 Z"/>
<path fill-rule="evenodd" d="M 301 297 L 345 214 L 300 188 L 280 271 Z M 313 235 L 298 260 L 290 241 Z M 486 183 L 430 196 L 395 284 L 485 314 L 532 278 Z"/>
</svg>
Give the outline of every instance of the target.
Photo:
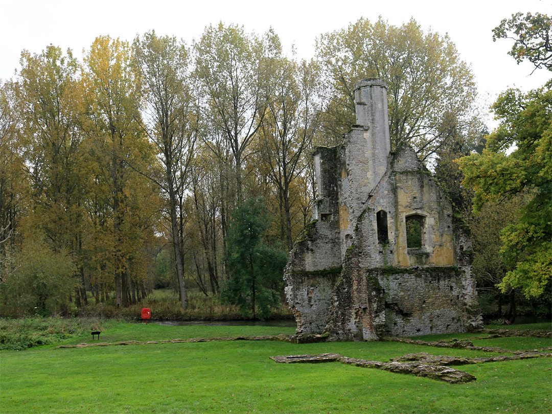
<svg viewBox="0 0 552 414">
<path fill-rule="evenodd" d="M 32 183 L 28 231 L 44 233 L 55 251 L 76 254 L 79 305 L 79 299 L 87 298 L 82 263 L 86 161 L 78 123 L 78 65 L 70 50 L 64 54 L 53 45 L 35 55 L 23 51 L 20 63 L 19 134 Z"/>
</svg>

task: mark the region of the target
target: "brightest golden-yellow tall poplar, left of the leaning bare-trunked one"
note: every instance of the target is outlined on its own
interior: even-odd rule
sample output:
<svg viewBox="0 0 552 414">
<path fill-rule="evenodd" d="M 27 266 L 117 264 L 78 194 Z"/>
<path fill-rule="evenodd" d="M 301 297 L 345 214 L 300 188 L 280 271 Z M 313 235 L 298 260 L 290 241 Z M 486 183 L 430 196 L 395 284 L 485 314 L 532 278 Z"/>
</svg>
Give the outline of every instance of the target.
<svg viewBox="0 0 552 414">
<path fill-rule="evenodd" d="M 140 85 L 131 66 L 128 42 L 99 36 L 84 58 L 87 119 L 84 125 L 99 168 L 98 179 L 109 189 L 112 214 L 112 272 L 117 306 L 128 304 L 128 254 L 125 246 L 125 203 L 129 177 L 141 160 L 147 160 L 147 140 L 140 129 Z"/>
</svg>

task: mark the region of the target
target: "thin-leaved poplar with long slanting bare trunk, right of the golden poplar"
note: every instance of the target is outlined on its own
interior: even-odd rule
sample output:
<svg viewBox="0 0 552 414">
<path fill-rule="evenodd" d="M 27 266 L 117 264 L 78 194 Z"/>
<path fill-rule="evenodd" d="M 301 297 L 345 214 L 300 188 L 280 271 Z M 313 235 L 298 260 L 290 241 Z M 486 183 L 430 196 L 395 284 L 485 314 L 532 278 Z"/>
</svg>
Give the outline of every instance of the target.
<svg viewBox="0 0 552 414">
<path fill-rule="evenodd" d="M 188 51 L 174 37 L 154 31 L 134 41 L 135 65 L 144 84 L 145 130 L 155 144 L 164 180 L 155 179 L 168 199 L 171 237 L 181 305 L 188 296 L 184 284 L 184 209 L 197 140 L 198 111 L 189 83 Z"/>
</svg>

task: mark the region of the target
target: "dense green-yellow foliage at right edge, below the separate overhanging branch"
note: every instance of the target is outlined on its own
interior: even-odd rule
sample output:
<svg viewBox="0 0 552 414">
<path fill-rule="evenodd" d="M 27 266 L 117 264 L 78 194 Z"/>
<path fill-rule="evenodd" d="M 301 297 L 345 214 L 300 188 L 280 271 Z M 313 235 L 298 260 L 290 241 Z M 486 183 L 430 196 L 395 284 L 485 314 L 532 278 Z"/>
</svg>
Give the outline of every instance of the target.
<svg viewBox="0 0 552 414">
<path fill-rule="evenodd" d="M 545 291 L 552 275 L 552 82 L 527 94 L 508 89 L 493 105 L 500 126 L 481 155 L 461 158 L 465 183 L 475 190 L 475 209 L 526 193 L 519 221 L 501 232 L 501 253 L 510 269 L 500 284 L 527 297 Z M 516 149 L 507 155 L 512 146 Z"/>
</svg>

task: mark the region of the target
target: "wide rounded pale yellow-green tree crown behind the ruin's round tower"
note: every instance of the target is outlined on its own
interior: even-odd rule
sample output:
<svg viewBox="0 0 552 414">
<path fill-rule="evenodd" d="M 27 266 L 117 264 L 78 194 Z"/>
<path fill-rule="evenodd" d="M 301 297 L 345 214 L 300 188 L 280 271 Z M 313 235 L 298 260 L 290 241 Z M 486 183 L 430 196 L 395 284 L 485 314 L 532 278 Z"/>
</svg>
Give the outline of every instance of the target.
<svg viewBox="0 0 552 414">
<path fill-rule="evenodd" d="M 361 18 L 322 34 L 317 59 L 326 76 L 325 129 L 338 137 L 354 120 L 354 82 L 378 77 L 388 86 L 392 147 L 407 142 L 432 156 L 458 128 L 468 125 L 476 95 L 473 74 L 447 35 Z"/>
</svg>

